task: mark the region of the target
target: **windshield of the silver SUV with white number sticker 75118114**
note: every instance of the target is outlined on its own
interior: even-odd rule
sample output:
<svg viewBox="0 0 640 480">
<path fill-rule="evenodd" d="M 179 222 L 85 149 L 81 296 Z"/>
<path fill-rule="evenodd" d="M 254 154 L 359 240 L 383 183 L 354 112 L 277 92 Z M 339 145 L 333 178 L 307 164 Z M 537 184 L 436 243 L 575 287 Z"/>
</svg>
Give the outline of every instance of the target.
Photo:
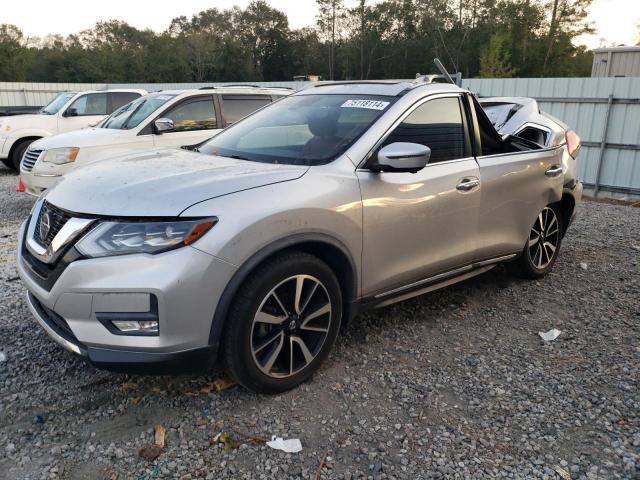
<svg viewBox="0 0 640 480">
<path fill-rule="evenodd" d="M 349 148 L 394 101 L 395 97 L 374 95 L 287 97 L 198 150 L 256 162 L 322 165 Z"/>
</svg>

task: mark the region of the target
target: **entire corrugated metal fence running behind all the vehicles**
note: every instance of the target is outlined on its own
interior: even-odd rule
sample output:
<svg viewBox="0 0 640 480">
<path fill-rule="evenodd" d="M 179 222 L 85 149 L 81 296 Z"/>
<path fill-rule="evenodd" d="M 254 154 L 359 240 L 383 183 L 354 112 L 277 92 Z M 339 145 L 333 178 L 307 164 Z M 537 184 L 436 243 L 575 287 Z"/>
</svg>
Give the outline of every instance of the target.
<svg viewBox="0 0 640 480">
<path fill-rule="evenodd" d="M 300 90 L 312 82 L 253 82 Z M 144 88 L 148 91 L 224 83 L 77 84 L 0 82 L 0 106 L 44 105 L 56 92 Z M 482 96 L 524 96 L 571 126 L 582 138 L 579 176 L 587 192 L 640 198 L 640 78 L 467 79 Z"/>
</svg>

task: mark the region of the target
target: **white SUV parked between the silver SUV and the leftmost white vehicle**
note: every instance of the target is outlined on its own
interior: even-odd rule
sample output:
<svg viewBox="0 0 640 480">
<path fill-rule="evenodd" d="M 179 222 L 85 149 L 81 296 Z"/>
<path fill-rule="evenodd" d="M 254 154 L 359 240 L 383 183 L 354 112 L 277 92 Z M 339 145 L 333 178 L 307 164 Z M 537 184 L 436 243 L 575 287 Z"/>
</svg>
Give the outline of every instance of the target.
<svg viewBox="0 0 640 480">
<path fill-rule="evenodd" d="M 91 162 L 162 147 L 192 146 L 293 90 L 218 87 L 151 93 L 113 112 L 95 128 L 43 138 L 30 145 L 20 176 L 39 195 Z"/>
</svg>

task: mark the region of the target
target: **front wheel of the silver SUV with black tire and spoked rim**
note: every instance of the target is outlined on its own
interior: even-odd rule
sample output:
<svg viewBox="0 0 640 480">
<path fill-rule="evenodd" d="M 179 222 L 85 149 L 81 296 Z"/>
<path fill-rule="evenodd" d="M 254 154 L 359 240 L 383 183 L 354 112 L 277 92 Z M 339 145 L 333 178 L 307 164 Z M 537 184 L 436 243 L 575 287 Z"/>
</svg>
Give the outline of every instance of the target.
<svg viewBox="0 0 640 480">
<path fill-rule="evenodd" d="M 223 339 L 227 372 L 254 392 L 289 390 L 327 357 L 341 319 L 340 284 L 329 266 L 304 252 L 279 255 L 234 299 Z"/>
</svg>

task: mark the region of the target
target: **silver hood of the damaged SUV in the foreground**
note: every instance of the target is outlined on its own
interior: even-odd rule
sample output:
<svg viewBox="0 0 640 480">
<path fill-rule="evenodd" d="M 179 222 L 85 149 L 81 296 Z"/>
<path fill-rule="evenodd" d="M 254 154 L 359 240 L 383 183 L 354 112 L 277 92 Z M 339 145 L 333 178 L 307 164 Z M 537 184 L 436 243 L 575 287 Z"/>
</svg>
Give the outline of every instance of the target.
<svg viewBox="0 0 640 480">
<path fill-rule="evenodd" d="M 90 215 L 175 217 L 204 200 L 295 180 L 308 168 L 162 149 L 74 170 L 48 192 L 47 201 Z"/>
</svg>

